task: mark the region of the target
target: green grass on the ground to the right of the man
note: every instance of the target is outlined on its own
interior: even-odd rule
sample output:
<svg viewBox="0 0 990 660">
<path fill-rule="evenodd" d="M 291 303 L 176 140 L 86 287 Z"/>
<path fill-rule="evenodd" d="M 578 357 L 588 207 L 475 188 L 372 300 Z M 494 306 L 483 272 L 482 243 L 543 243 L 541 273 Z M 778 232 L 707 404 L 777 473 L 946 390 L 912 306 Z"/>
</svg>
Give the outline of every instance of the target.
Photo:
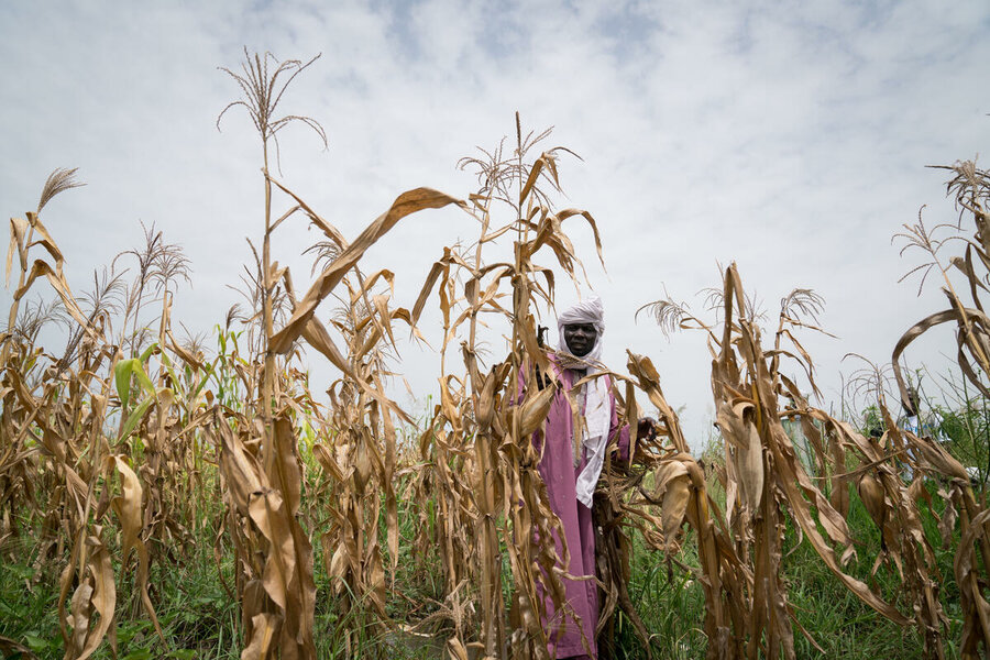
<svg viewBox="0 0 990 660">
<path fill-rule="evenodd" d="M 716 499 L 719 492 L 713 488 Z M 930 492 L 942 513 L 942 504 Z M 953 551 L 942 548 L 936 520 L 922 505 L 922 519 L 933 547 L 941 572 L 939 590 L 949 627 L 945 636 L 946 658 L 958 658 L 956 646 L 961 635 L 959 594 L 953 575 Z M 910 604 L 901 586 L 901 579 L 892 564 L 880 566 L 876 576 L 870 575 L 873 559 L 880 551 L 880 534 L 870 520 L 859 498 L 854 495 L 847 519 L 857 546 L 857 557 L 846 566 L 855 578 L 879 590 L 894 602 L 900 610 L 910 614 Z M 956 535 L 958 541 L 958 534 Z M 634 536 L 632 580 L 629 595 L 653 635 L 653 657 L 673 659 L 704 659 L 704 595 L 693 575 L 678 566 L 668 569 L 662 557 L 645 548 L 641 538 Z M 686 565 L 698 565 L 694 542 L 689 538 L 676 559 Z M 816 649 L 794 626 L 794 646 L 798 658 L 829 658 L 849 660 L 898 660 L 925 658 L 924 645 L 915 628 L 902 628 L 883 618 L 853 595 L 825 566 L 811 544 L 798 542 L 793 526 L 787 529 L 783 576 L 788 583 L 789 602 L 798 622 L 822 648 Z M 622 615 L 619 615 L 622 617 Z M 632 631 L 631 625 L 616 626 L 617 658 L 641 659 L 646 652 Z M 823 652 L 824 651 L 824 652 Z"/>
</svg>

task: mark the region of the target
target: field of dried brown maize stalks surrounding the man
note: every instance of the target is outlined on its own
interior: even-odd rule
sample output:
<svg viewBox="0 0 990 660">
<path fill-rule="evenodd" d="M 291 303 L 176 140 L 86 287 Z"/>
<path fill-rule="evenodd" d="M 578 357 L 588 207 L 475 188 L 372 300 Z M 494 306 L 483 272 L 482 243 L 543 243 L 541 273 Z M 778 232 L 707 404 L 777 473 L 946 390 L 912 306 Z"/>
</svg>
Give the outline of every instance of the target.
<svg viewBox="0 0 990 660">
<path fill-rule="evenodd" d="M 54 172 L 36 208 L 10 219 L 6 657 L 548 658 L 543 594 L 566 608 L 568 563 L 531 438 L 558 385 L 520 384 L 548 373 L 540 323 L 557 289 L 584 280 L 566 229 L 590 227 L 591 257 L 605 263 L 592 212 L 553 204 L 570 152 L 547 147 L 549 131 L 529 132 L 517 116 L 510 139 L 459 164 L 477 175 L 475 190 L 407 190 L 345 238 L 271 169 L 287 125 L 326 143 L 315 120 L 279 113 L 309 64 L 250 55 L 224 69 L 242 96 L 223 112 L 246 111 L 257 130 L 265 207 L 244 304 L 218 319 L 216 346 L 177 338 L 170 310 L 189 264 L 153 227 L 76 293 L 87 283 L 64 276 L 58 232 L 43 221 L 81 185 L 76 170 Z M 919 268 L 942 278 L 947 306 L 892 346 L 890 381 L 881 367 L 862 373 L 859 394 L 883 420 L 877 435 L 816 407 L 816 366 L 801 343 L 824 332 L 813 290 L 793 289 L 768 321 L 733 264 L 704 314 L 673 299 L 644 305 L 658 332 L 706 338 L 711 362 L 697 369 L 711 370 L 722 444 L 692 453 L 649 356 L 629 352 L 609 374 L 625 422 L 652 415 L 657 435 L 634 441 L 630 466 L 606 459 L 595 493 L 600 657 L 826 656 L 828 640 L 795 605 L 798 557 L 862 606 L 866 626 L 903 630 L 919 657 L 990 651 L 986 495 L 943 443 L 899 427 L 888 402 L 910 398 L 903 358 L 943 323 L 968 386 L 990 398 L 990 177 L 970 162 L 947 172 L 958 222 L 928 230 L 919 219 L 901 234 L 909 254 L 925 255 Z M 367 272 L 363 255 L 398 222 L 448 206 L 476 235 L 437 245 L 418 297 L 397 300 L 393 273 Z M 284 222 L 320 232 L 301 287 L 273 254 Z M 936 238 L 945 232 L 954 240 Z M 441 328 L 422 327 L 428 307 Z M 505 340 L 483 341 L 490 328 Z M 441 338 L 438 403 L 418 418 L 389 394 L 399 332 Z M 59 344 L 43 345 L 52 336 Z M 326 393 L 306 373 L 316 360 L 339 374 Z M 166 625 L 166 596 L 188 586 L 177 576 L 190 565 L 222 595 L 190 598 L 191 616 L 172 613 Z M 696 612 L 658 630 L 656 604 L 634 585 L 644 571 L 693 594 Z M 11 603 L 11 593 L 24 596 Z M 30 616 L 29 594 L 47 594 Z M 210 627 L 217 603 L 235 612 L 229 626 Z"/>
</svg>

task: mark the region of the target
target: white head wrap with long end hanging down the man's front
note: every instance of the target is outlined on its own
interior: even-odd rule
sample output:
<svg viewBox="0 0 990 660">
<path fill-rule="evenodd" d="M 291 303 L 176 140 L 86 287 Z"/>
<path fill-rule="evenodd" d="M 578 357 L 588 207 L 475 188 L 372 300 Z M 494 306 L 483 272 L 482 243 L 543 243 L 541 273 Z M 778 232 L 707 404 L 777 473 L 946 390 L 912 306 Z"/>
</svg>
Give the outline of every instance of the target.
<svg viewBox="0 0 990 660">
<path fill-rule="evenodd" d="M 597 336 L 595 343 L 586 355 L 576 358 L 571 354 L 566 340 L 564 340 L 564 326 L 590 323 L 595 327 Z M 602 299 L 592 296 L 564 309 L 557 317 L 557 330 L 560 334 L 558 344 L 561 366 L 565 369 L 587 369 L 587 374 L 602 371 L 602 336 L 605 334 L 605 309 Z M 576 460 L 580 461 L 583 451 L 587 457 L 584 470 L 578 475 L 578 501 L 586 507 L 591 507 L 595 485 L 602 474 L 602 465 L 605 463 L 605 447 L 608 443 L 608 431 L 612 427 L 612 407 L 608 396 L 608 387 L 604 376 L 600 376 L 584 385 L 584 428 L 581 433 L 581 446 Z"/>
</svg>

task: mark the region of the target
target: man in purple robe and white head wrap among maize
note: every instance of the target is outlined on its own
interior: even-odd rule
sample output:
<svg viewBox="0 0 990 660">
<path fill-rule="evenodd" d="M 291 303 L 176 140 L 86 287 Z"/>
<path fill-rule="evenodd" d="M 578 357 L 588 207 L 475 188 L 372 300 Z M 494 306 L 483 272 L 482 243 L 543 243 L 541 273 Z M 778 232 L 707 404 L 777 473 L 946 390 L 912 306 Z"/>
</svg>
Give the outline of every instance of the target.
<svg viewBox="0 0 990 660">
<path fill-rule="evenodd" d="M 597 657 L 595 626 L 598 622 L 591 507 L 609 439 L 617 441 L 618 460 L 628 461 L 629 427 L 619 426 L 607 375 L 578 385 L 585 376 L 605 371 L 600 361 L 605 333 L 602 300 L 594 296 L 563 310 L 557 328 L 560 341 L 558 351 L 551 355 L 549 375 L 560 384 L 560 391 L 547 416 L 544 439 L 537 440 L 537 449 L 542 452 L 539 472 L 547 484 L 550 508 L 563 527 L 571 556 L 566 572 L 587 579 L 564 580 L 568 604 L 580 624 L 570 613 L 558 612 L 547 596 L 543 626 L 551 658 L 587 659 Z M 638 427 L 638 437 L 652 433 L 649 418 L 639 420 Z M 560 539 L 556 540 L 562 556 Z"/>
</svg>

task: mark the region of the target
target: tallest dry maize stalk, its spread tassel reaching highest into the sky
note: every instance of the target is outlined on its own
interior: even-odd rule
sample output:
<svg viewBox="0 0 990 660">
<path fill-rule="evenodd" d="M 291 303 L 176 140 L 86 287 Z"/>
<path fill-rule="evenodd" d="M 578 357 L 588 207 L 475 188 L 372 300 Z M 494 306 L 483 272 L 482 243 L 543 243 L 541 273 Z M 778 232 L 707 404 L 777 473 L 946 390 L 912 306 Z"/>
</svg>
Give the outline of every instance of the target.
<svg viewBox="0 0 990 660">
<path fill-rule="evenodd" d="M 242 74 L 223 68 L 240 86 L 244 98 L 229 103 L 217 119 L 230 108 L 241 106 L 248 110 L 262 141 L 262 160 L 265 190 L 265 231 L 260 263 L 261 288 L 257 296 L 262 306 L 263 371 L 255 383 L 261 405 L 261 452 L 253 462 L 253 425 L 239 416 L 237 426 L 241 433 L 231 432 L 229 421 L 218 415 L 215 424 L 219 431 L 221 470 L 228 486 L 228 498 L 234 510 L 235 524 L 231 530 L 240 556 L 239 592 L 242 601 L 245 636 L 249 639 L 244 658 L 283 657 L 312 658 L 315 646 L 312 626 L 316 586 L 312 576 L 312 548 L 297 519 L 300 506 L 302 465 L 296 447 L 296 430 L 288 409 L 280 403 L 277 392 L 278 364 L 273 351 L 275 336 L 273 293 L 278 283 L 273 279 L 271 238 L 277 227 L 272 221 L 272 180 L 270 176 L 270 145 L 278 147 L 277 133 L 293 121 L 310 127 L 323 145 L 327 136 L 322 127 L 312 119 L 298 116 L 275 117 L 282 96 L 293 79 L 316 59 L 302 64 L 299 61 L 278 62 L 271 54 L 255 54 L 252 58 L 245 50 Z M 273 72 L 268 63 L 276 64 Z M 295 210 L 295 209 L 294 209 Z M 285 217 L 292 215 L 289 211 Z M 273 406 L 279 399 L 276 415 Z M 254 483 L 261 488 L 263 507 L 256 492 L 246 498 L 237 484 Z M 233 514 L 232 514 L 233 516 Z M 278 529 L 279 532 L 274 530 Z M 288 536 L 288 538 L 284 538 Z M 283 538 L 279 538 L 283 537 Z M 262 575 L 266 578 L 262 580 Z M 270 576 L 278 575 L 279 581 Z M 272 639 L 277 635 L 278 642 Z M 250 652 L 249 652 L 250 650 Z"/>
</svg>

